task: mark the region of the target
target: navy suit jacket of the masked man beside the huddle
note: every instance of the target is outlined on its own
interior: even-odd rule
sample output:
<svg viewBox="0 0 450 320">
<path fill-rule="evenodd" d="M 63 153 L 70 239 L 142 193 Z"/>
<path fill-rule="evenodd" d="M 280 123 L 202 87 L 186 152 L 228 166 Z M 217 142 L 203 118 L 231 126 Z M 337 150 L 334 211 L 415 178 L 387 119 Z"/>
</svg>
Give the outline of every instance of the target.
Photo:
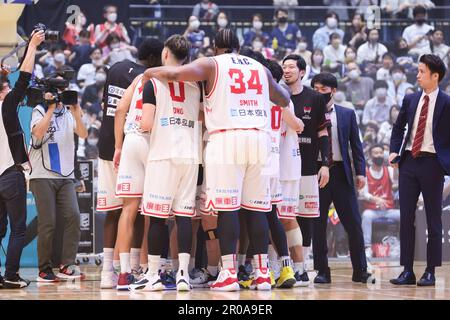
<svg viewBox="0 0 450 320">
<path fill-rule="evenodd" d="M 353 186 L 353 173 L 350 160 L 349 146 L 352 149 L 353 165 L 357 176 L 366 175 L 366 161 L 364 151 L 359 138 L 359 128 L 356 122 L 355 111 L 349 108 L 334 105 L 336 110 L 337 131 L 342 161 L 344 163 L 347 182 Z"/>
</svg>

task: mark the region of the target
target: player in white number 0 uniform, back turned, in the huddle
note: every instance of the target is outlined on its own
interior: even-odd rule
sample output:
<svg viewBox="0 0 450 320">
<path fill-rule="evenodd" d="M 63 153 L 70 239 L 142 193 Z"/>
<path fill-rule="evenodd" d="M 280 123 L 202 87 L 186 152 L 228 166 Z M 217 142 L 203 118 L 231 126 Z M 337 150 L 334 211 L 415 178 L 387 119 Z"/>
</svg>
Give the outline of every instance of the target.
<svg viewBox="0 0 450 320">
<path fill-rule="evenodd" d="M 173 35 L 164 44 L 164 66 L 181 66 L 189 56 L 189 42 Z M 195 216 L 198 165 L 201 159 L 199 110 L 201 88 L 196 82 L 151 79 L 144 89 L 141 131 L 150 132 L 142 214 L 150 216 L 149 269 L 131 290 L 163 290 L 158 269 L 166 219 L 175 216 L 179 268 L 177 290 L 189 291 L 192 244 L 191 218 Z"/>
</svg>

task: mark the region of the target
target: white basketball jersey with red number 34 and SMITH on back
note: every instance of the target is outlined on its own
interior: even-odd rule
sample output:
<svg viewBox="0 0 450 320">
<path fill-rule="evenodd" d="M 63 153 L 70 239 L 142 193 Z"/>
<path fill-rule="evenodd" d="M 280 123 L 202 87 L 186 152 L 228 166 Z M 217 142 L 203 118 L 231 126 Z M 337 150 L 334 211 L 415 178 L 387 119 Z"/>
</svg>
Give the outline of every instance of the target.
<svg viewBox="0 0 450 320">
<path fill-rule="evenodd" d="M 238 54 L 212 59 L 216 78 L 204 101 L 208 132 L 251 128 L 269 132 L 269 83 L 264 67 Z"/>
</svg>

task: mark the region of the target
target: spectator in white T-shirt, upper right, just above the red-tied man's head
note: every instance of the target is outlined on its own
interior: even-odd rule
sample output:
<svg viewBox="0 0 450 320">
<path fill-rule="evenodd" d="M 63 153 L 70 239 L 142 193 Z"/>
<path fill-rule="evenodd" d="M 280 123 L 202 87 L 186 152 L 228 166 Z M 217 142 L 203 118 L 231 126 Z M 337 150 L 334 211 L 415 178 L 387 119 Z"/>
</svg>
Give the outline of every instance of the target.
<svg viewBox="0 0 450 320">
<path fill-rule="evenodd" d="M 403 30 L 402 37 L 408 43 L 408 53 L 414 56 L 431 53 L 430 40 L 428 39 L 433 27 L 426 24 L 427 10 L 422 6 L 417 6 L 413 10 L 414 24 Z"/>
</svg>

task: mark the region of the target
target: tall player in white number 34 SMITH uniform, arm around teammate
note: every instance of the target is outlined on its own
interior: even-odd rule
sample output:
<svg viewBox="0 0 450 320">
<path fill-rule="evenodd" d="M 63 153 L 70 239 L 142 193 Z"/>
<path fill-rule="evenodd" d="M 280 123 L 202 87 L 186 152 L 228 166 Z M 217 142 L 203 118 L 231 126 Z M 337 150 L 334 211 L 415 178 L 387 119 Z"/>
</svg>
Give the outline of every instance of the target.
<svg viewBox="0 0 450 320">
<path fill-rule="evenodd" d="M 263 174 L 270 148 L 269 113 L 272 101 L 289 105 L 289 95 L 270 71 L 252 58 L 236 54 L 239 40 L 230 29 L 214 40 L 214 58 L 201 58 L 181 67 L 148 69 L 147 78 L 166 81 L 205 81 L 206 210 L 218 211 L 223 269 L 212 290 L 237 291 L 235 254 L 239 239 L 239 209 L 245 209 L 250 240 L 255 241 L 256 287 L 270 290 L 267 268 L 271 211 L 270 179 Z"/>
</svg>

